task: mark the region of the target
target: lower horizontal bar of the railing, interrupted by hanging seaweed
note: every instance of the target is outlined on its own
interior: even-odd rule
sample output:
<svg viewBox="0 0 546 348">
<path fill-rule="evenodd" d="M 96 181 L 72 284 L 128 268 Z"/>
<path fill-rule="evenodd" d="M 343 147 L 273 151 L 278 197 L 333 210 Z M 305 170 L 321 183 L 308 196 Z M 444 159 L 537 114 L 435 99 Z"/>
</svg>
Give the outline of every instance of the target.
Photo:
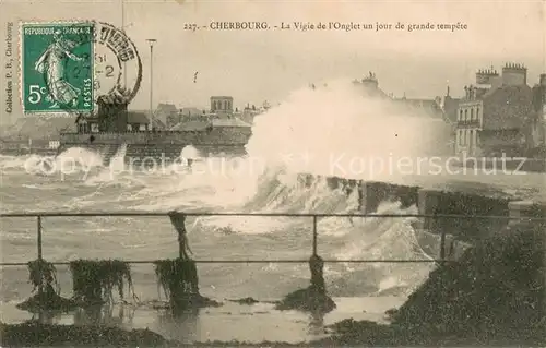
<svg viewBox="0 0 546 348">
<path fill-rule="evenodd" d="M 157 260 L 124 261 L 129 264 L 153 264 Z M 309 263 L 309 260 L 193 260 L 195 263 Z M 324 263 L 439 263 L 448 260 L 323 260 Z M 2 262 L 0 266 L 26 266 L 26 262 Z M 69 261 L 50 262 L 54 265 L 70 265 Z"/>
</svg>

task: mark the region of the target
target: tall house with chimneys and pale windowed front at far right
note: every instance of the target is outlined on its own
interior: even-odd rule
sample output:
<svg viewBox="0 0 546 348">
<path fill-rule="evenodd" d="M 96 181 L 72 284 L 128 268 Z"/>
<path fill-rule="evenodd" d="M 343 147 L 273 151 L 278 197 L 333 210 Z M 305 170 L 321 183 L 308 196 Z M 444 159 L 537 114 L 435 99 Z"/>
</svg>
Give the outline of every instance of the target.
<svg viewBox="0 0 546 348">
<path fill-rule="evenodd" d="M 476 84 L 465 86 L 456 109 L 455 154 L 523 156 L 532 145 L 533 91 L 527 69 L 507 63 L 479 70 Z"/>
</svg>

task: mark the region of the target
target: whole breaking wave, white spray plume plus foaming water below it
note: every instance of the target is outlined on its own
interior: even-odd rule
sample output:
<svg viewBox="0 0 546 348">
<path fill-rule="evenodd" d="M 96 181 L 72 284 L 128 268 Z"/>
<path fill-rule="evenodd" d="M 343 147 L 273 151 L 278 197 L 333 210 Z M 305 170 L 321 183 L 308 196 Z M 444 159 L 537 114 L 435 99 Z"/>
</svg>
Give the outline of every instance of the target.
<svg viewBox="0 0 546 348">
<path fill-rule="evenodd" d="M 309 151 L 316 158 L 322 158 L 343 153 L 369 156 L 394 153 L 402 156 L 422 151 L 422 134 L 417 137 L 412 134 L 430 124 L 430 121 L 402 121 L 400 115 L 384 115 L 382 108 L 379 101 L 356 98 L 344 87 L 299 91 L 282 106 L 257 118 L 247 158 L 194 158 L 191 170 L 178 170 L 174 165 L 155 172 L 128 168 L 123 147 L 114 155 L 108 166 L 104 166 L 105 154 L 85 148 L 70 148 L 57 157 L 1 156 L 2 173 L 8 173 L 9 178 L 16 175 L 24 177 L 24 182 L 13 179 L 12 193 L 5 193 L 3 197 L 15 199 L 13 192 L 19 192 L 21 206 L 17 208 L 14 203 L 9 205 L 9 209 L 20 211 L 24 209 L 23 204 L 33 202 L 32 199 L 23 202 L 25 194 L 35 197 L 37 190 L 55 187 L 60 188 L 58 195 L 57 191 L 49 190 L 40 197 L 44 201 L 41 204 L 49 209 L 358 213 L 357 190 L 351 193 L 344 188 L 333 190 L 321 176 L 314 176 L 311 182 L 302 182 L 301 173 L 332 173 L 320 163 L 301 166 L 278 154 L 297 155 Z M 393 130 L 390 128 L 392 124 L 397 128 Z M 185 148 L 181 155 L 198 157 L 199 153 L 194 148 Z M 256 158 L 263 159 L 266 165 L 252 167 Z M 49 167 L 47 182 L 43 179 L 44 167 Z M 32 193 L 26 193 L 29 190 Z M 379 213 L 414 211 L 415 207 L 401 209 L 396 203 L 383 203 L 379 207 Z M 319 218 L 319 254 L 324 259 L 342 261 L 430 259 L 423 250 L 412 223 L 408 218 Z M 93 228 L 96 229 L 96 226 Z M 240 254 L 241 257 L 249 250 L 262 248 L 245 244 L 254 240 L 275 241 L 277 249 L 263 251 L 275 253 L 277 256 L 274 259 L 302 259 L 309 256 L 311 230 L 309 217 L 219 216 L 195 218 L 189 233 L 198 244 L 218 248 L 222 243 L 222 249 L 232 250 L 233 254 Z M 157 250 L 164 248 L 153 247 L 155 241 L 152 235 L 140 238 L 139 245 Z M 116 242 L 114 237 L 109 240 L 110 243 Z M 68 252 L 63 250 L 61 253 L 66 255 Z M 287 289 L 307 281 L 309 276 L 307 265 L 290 267 L 292 276 L 285 277 L 288 279 Z M 333 296 L 405 295 L 428 275 L 430 267 L 429 264 L 417 263 L 336 263 L 328 264 L 325 274 Z M 274 269 L 270 271 L 275 273 Z M 218 271 L 213 269 L 211 274 L 217 275 Z"/>
</svg>

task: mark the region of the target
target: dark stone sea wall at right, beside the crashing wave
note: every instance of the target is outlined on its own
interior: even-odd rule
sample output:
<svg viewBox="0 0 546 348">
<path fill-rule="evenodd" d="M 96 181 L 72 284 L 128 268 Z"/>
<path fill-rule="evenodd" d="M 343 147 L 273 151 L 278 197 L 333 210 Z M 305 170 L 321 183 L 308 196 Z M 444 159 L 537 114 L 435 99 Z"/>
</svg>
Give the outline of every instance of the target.
<svg viewBox="0 0 546 348">
<path fill-rule="evenodd" d="M 310 187 L 320 176 L 299 175 L 299 182 Z M 322 177 L 324 178 L 324 177 Z M 358 212 L 377 213 L 382 202 L 399 202 L 401 208 L 415 205 L 419 215 L 429 215 L 418 219 L 414 227 L 432 235 L 444 233 L 449 240 L 474 243 L 489 238 L 509 225 L 509 216 L 534 214 L 537 217 L 545 213 L 541 203 L 517 202 L 519 199 L 484 187 L 444 189 L 425 189 L 416 185 L 401 185 L 387 182 L 324 178 L 329 188 L 341 190 L 347 196 L 358 190 Z M 459 217 L 438 217 L 435 215 L 458 215 Z M 462 217 L 461 217 L 462 216 Z M 444 248 L 449 248 L 444 243 Z M 443 250 L 446 254 L 447 250 Z"/>
</svg>

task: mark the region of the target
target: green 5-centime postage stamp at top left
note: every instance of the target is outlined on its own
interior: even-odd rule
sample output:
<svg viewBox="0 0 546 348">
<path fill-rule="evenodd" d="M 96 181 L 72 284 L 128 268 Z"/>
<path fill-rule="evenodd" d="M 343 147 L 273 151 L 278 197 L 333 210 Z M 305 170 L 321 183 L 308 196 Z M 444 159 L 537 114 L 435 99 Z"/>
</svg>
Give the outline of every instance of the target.
<svg viewBox="0 0 546 348">
<path fill-rule="evenodd" d="M 22 23 L 24 112 L 93 111 L 93 49 L 92 22 Z"/>
</svg>

